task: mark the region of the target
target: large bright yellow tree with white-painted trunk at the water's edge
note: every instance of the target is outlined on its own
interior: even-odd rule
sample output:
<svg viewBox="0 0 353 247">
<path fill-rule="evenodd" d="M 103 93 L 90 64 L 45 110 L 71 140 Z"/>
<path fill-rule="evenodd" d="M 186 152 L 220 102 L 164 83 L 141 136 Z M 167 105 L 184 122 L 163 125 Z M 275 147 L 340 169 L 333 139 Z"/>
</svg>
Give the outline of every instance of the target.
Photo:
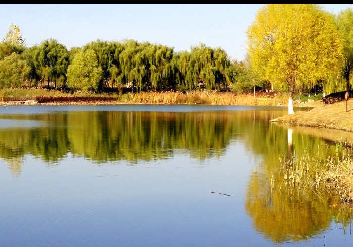
<svg viewBox="0 0 353 247">
<path fill-rule="evenodd" d="M 339 71 L 343 39 L 334 15 L 316 4 L 268 4 L 258 10 L 247 30 L 252 68 L 274 85 L 286 84 L 288 113 L 298 86 Z"/>
</svg>

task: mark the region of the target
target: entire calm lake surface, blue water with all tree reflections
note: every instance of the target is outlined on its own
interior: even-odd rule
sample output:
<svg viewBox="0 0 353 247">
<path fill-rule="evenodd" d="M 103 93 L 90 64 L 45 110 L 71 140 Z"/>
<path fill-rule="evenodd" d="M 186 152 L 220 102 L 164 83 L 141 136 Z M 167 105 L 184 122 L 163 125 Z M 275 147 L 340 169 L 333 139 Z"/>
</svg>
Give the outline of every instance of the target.
<svg viewBox="0 0 353 247">
<path fill-rule="evenodd" d="M 285 114 L 1 106 L 0 246 L 350 246 L 337 195 L 282 182 L 293 154 L 335 150 Z"/>
</svg>

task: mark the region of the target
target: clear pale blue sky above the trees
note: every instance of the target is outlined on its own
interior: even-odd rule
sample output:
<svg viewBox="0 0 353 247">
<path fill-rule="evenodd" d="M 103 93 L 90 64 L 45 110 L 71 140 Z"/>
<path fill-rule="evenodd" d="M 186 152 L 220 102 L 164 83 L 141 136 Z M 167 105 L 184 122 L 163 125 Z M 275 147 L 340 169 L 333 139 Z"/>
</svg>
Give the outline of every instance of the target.
<svg viewBox="0 0 353 247">
<path fill-rule="evenodd" d="M 200 43 L 231 60 L 246 54 L 246 30 L 265 4 L 0 4 L 0 38 L 20 28 L 27 47 L 49 38 L 71 47 L 133 39 L 190 52 Z M 337 14 L 352 4 L 320 4 Z"/>
</svg>

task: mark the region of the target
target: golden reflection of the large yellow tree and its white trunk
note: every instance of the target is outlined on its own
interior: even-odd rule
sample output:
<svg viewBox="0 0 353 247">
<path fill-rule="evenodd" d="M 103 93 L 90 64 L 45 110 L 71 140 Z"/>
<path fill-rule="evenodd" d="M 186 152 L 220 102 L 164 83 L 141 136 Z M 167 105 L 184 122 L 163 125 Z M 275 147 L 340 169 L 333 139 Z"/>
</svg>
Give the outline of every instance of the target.
<svg viewBox="0 0 353 247">
<path fill-rule="evenodd" d="M 254 170 L 249 181 L 245 209 L 253 218 L 254 227 L 275 243 L 308 241 L 328 230 L 332 219 L 347 227 L 351 210 L 348 205 L 340 204 L 339 195 L 326 190 L 325 184 L 296 181 L 289 172 L 297 170 L 303 172 L 303 180 L 315 180 L 318 164 L 324 165 L 328 159 L 340 156 L 336 146 L 295 133 L 290 127 L 287 138 L 282 140 L 287 140 L 287 144 L 264 153 L 262 169 Z M 283 161 L 276 161 L 278 157 Z M 303 164 L 307 159 L 315 162 Z M 299 168 L 302 165 L 307 166 Z M 345 213 L 338 213 L 337 207 Z"/>
</svg>

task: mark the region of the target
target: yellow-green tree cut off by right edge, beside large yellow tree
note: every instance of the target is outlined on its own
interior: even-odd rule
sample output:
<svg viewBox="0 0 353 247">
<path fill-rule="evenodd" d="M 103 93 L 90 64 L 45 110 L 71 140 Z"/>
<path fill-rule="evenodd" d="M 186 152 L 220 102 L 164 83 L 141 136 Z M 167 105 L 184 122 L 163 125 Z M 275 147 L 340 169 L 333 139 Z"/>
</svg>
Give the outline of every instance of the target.
<svg viewBox="0 0 353 247">
<path fill-rule="evenodd" d="M 346 81 L 346 90 L 350 90 L 350 74 L 353 69 L 353 11 L 347 8 L 337 15 L 337 26 L 344 38 L 343 77 Z"/>
</svg>

